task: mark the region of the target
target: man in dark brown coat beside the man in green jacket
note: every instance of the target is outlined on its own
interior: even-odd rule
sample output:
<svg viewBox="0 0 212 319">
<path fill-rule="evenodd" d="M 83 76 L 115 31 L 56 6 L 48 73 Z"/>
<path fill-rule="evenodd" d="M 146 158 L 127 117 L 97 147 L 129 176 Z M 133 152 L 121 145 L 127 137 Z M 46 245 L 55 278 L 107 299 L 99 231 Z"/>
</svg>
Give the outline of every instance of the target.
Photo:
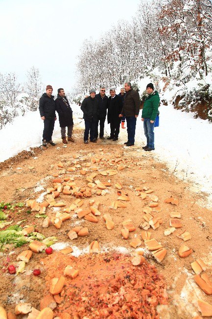
<svg viewBox="0 0 212 319">
<path fill-rule="evenodd" d="M 124 97 L 124 104 L 119 117 L 125 116 L 127 121 L 127 135 L 128 141 L 124 144 L 126 146 L 133 146 L 135 143 L 136 120 L 140 111 L 140 97 L 136 90 L 132 89 L 130 82 L 124 84 L 126 95 Z"/>
</svg>

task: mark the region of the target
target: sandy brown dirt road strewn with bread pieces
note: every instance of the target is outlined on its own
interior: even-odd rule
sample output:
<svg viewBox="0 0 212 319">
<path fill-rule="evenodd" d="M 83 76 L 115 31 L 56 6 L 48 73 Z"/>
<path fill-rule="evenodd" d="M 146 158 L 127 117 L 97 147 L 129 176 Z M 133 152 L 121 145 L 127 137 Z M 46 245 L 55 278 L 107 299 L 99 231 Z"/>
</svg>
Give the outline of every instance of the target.
<svg viewBox="0 0 212 319">
<path fill-rule="evenodd" d="M 193 280 L 194 272 L 190 264 L 197 258 L 202 258 L 207 264 L 206 273 L 211 278 L 212 212 L 196 204 L 200 195 L 191 193 L 188 190 L 188 184 L 177 180 L 168 171 L 164 163 L 155 161 L 153 152 L 144 152 L 137 147 L 123 148 L 123 145 L 108 140 L 98 140 L 96 144 L 85 145 L 82 142 L 81 135 L 80 130 L 75 131 L 75 143 L 69 143 L 67 147 L 58 143 L 55 147 L 49 147 L 45 150 L 38 148 L 30 153 L 23 152 L 15 158 L 1 163 L 0 201 L 25 202 L 27 199 L 43 201 L 46 198 L 47 187 L 52 187 L 54 178 L 52 174 L 58 173 L 61 178 L 69 176 L 74 180 L 76 186 L 84 187 L 89 183 L 86 178 L 95 172 L 97 175 L 94 181 L 110 181 L 112 186 L 106 188 L 104 195 L 94 193 L 91 198 L 85 198 L 83 209 L 89 208 L 89 200 L 99 201 L 101 215 L 109 213 L 112 216 L 115 223 L 114 229 L 107 230 L 101 216 L 97 223 L 92 223 L 84 218 L 78 219 L 73 212 L 71 213 L 71 219 L 63 222 L 60 229 L 56 229 L 52 225 L 49 228 L 43 228 L 43 218 L 36 218 L 35 213 L 26 214 L 26 210 L 11 214 L 13 224 L 26 219 L 24 224 L 34 224 L 37 231 L 46 237 L 57 237 L 59 243 L 55 245 L 55 251 L 69 245 L 73 246 L 75 255 L 88 251 L 88 246 L 93 240 L 99 242 L 102 252 L 109 252 L 110 254 L 117 252 L 129 256 L 129 254 L 134 255 L 138 249 L 143 249 L 144 257 L 150 264 L 156 266 L 158 272 L 164 276 L 167 285 L 169 304 L 158 308 L 160 318 L 186 319 L 193 318 L 197 314 L 200 315 L 196 307 L 197 299 L 201 298 L 212 304 L 212 297 L 207 296 L 195 284 Z M 98 159 L 97 162 L 95 159 Z M 120 161 L 116 162 L 117 159 L 120 159 Z M 64 167 L 58 168 L 57 164 L 59 162 Z M 91 163 L 91 165 L 86 167 L 86 163 Z M 73 172 L 67 171 L 67 168 L 74 166 L 75 170 Z M 120 166 L 123 166 L 123 169 L 119 170 Z M 82 169 L 86 170 L 86 175 L 80 174 Z M 61 174 L 63 170 L 65 170 L 64 174 Z M 102 176 L 99 173 L 108 170 L 115 170 L 117 174 Z M 112 202 L 118 198 L 116 183 L 122 184 L 121 193 L 127 194 L 130 198 L 129 201 L 124 202 L 126 208 L 118 208 L 117 210 L 111 209 Z M 144 187 L 144 190 L 152 189 L 153 192 L 142 200 L 139 193 L 135 191 L 137 187 L 141 189 Z M 130 246 L 132 239 L 141 239 L 141 228 L 139 226 L 144 222 L 142 218 L 144 215 L 143 209 L 148 207 L 152 195 L 159 198 L 158 203 L 161 207 L 161 211 L 159 209 L 159 212 L 154 212 L 153 215 L 154 217 L 161 217 L 163 223 L 155 230 L 150 227 L 148 231 L 151 232 L 151 238 L 155 238 L 167 249 L 167 254 L 161 263 L 157 263 L 151 252 L 145 248 L 143 240 L 141 240 L 141 246 L 137 249 Z M 164 202 L 166 198 L 171 196 L 179 200 L 177 206 Z M 201 197 L 202 199 L 203 197 Z M 63 193 L 60 193 L 59 198 L 57 198 L 57 202 L 64 202 L 66 207 L 69 207 L 75 200 L 76 198 L 73 195 L 64 195 Z M 62 209 L 47 208 L 47 215 L 52 217 Z M 171 212 L 181 213 L 182 227 L 177 228 L 173 234 L 165 236 L 165 229 L 170 227 Z M 122 222 L 128 218 L 132 220 L 136 230 L 130 233 L 129 239 L 125 240 L 120 232 L 123 228 Z M 70 240 L 67 233 L 76 225 L 88 227 L 89 236 Z M 191 235 L 191 239 L 185 243 L 193 252 L 187 258 L 180 258 L 178 250 L 184 241 L 177 235 L 185 230 Z M 1 266 L 3 266 L 8 256 L 10 258 L 9 263 L 14 262 L 17 254 L 24 248 L 27 249 L 27 245 L 16 249 L 13 249 L 12 245 L 8 245 L 7 250 L 0 258 Z M 9 255 L 9 253 L 11 254 Z M 33 256 L 33 260 L 26 266 L 26 271 L 19 276 L 11 277 L 7 272 L 1 272 L 0 274 L 1 282 L 3 282 L 0 287 L 0 304 L 7 310 L 14 309 L 15 303 L 22 300 L 32 303 L 33 307 L 39 309 L 39 300 L 47 289 L 47 273 L 45 272 L 47 269 L 40 277 L 33 277 L 31 270 L 42 267 L 46 263 L 41 264 L 41 254 L 34 254 Z M 44 257 L 42 254 L 43 259 Z M 45 266 L 43 267 L 45 269 Z M 88 316 L 88 318 L 90 317 Z"/>
</svg>

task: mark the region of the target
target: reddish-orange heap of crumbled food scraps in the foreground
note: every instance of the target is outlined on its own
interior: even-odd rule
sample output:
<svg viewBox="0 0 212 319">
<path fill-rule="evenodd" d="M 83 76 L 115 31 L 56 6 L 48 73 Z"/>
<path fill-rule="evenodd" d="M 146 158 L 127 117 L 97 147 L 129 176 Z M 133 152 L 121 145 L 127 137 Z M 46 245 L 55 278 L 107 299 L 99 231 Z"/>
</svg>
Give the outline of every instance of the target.
<svg viewBox="0 0 212 319">
<path fill-rule="evenodd" d="M 55 316 L 63 318 L 157 319 L 156 306 L 167 304 L 166 284 L 157 268 L 147 262 L 133 266 L 132 257 L 122 254 L 86 254 L 78 258 L 54 253 L 42 261 L 51 279 L 63 275 L 66 266 L 79 275 L 66 283 Z M 75 317 L 74 317 L 75 316 Z"/>
</svg>

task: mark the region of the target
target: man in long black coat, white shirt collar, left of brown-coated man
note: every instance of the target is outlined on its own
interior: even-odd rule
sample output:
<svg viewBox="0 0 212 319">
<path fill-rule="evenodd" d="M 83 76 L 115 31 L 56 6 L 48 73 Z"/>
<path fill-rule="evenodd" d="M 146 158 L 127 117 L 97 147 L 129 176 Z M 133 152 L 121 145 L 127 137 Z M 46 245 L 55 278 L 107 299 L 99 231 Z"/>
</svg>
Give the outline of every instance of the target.
<svg viewBox="0 0 212 319">
<path fill-rule="evenodd" d="M 119 114 L 122 110 L 122 106 L 122 101 L 119 96 L 116 95 L 115 89 L 110 89 L 110 97 L 108 99 L 108 124 L 110 123 L 111 134 L 108 139 L 112 139 L 113 141 L 118 140 L 121 123 Z"/>
</svg>

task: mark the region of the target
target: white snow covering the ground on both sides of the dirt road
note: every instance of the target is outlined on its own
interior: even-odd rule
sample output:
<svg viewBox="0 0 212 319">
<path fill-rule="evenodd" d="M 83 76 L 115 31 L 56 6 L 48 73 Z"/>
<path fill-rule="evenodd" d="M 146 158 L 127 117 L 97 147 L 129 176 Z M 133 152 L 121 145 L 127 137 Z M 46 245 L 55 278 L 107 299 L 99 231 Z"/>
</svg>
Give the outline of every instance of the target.
<svg viewBox="0 0 212 319">
<path fill-rule="evenodd" d="M 150 82 L 145 80 L 143 83 Z M 143 86 L 145 86 L 143 84 Z M 141 90 L 143 90 L 142 87 Z M 82 112 L 78 105 L 71 105 L 75 127 L 84 128 Z M 151 155 L 157 160 L 165 161 L 170 173 L 185 181 L 191 181 L 192 190 L 212 194 L 212 123 L 208 120 L 194 119 L 192 113 L 175 110 L 172 105 L 160 106 L 160 126 L 155 128 L 155 151 L 146 154 L 141 149 L 146 138 L 143 133 L 141 112 L 137 119 L 136 143 L 141 155 Z M 29 147 L 42 144 L 43 121 L 39 112 L 29 112 L 26 116 L 17 117 L 0 131 L 0 161 L 6 160 Z M 110 127 L 105 126 L 105 135 L 109 135 Z M 74 131 L 73 131 L 74 133 Z M 60 139 L 59 121 L 55 123 L 53 139 Z M 127 140 L 126 129 L 120 129 L 119 143 Z M 82 133 L 83 141 L 83 133 Z M 125 147 L 125 151 L 128 149 Z M 212 197 L 212 195 L 211 195 Z M 209 197 L 209 200 L 212 198 Z"/>
</svg>

